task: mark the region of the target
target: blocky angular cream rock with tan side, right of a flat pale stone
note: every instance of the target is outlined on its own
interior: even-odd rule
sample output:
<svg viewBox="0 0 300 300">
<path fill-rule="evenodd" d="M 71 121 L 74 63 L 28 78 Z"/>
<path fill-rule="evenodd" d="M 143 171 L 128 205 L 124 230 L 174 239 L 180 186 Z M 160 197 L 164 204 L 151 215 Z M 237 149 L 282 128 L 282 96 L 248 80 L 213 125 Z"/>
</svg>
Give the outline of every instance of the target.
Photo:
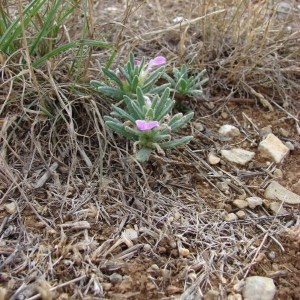
<svg viewBox="0 0 300 300">
<path fill-rule="evenodd" d="M 289 148 L 273 133 L 259 143 L 258 150 L 262 156 L 271 158 L 276 163 L 280 163 L 289 153 Z"/>
</svg>

